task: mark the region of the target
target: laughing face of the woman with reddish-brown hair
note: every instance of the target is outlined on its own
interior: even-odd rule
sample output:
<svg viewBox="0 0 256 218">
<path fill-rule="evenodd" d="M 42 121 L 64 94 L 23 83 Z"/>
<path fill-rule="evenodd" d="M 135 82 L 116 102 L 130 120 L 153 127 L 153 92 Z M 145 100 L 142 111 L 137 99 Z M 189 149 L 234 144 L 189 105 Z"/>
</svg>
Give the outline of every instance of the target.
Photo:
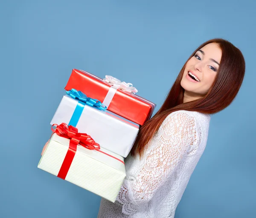
<svg viewBox="0 0 256 218">
<path fill-rule="evenodd" d="M 180 83 L 185 90 L 184 96 L 195 99 L 207 94 L 217 75 L 221 55 L 218 44 L 210 43 L 189 59 Z"/>
</svg>

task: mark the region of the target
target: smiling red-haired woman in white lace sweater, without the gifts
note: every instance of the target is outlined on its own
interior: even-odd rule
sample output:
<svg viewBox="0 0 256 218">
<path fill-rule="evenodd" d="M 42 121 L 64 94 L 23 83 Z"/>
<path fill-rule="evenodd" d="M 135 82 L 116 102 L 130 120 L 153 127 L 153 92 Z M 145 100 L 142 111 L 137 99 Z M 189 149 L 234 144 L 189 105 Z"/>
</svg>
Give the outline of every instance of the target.
<svg viewBox="0 0 256 218">
<path fill-rule="evenodd" d="M 213 39 L 198 47 L 160 110 L 140 128 L 116 202 L 102 198 L 98 218 L 174 218 L 204 152 L 209 114 L 230 105 L 244 72 L 244 57 L 230 42 Z"/>
</svg>

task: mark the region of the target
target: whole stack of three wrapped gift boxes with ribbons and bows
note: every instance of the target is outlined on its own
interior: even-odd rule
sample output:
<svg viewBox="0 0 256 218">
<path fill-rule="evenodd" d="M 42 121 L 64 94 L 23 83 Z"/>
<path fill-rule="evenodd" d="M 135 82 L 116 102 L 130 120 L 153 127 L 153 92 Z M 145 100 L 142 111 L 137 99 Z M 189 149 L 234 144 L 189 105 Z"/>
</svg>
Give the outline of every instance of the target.
<svg viewBox="0 0 256 218">
<path fill-rule="evenodd" d="M 38 168 L 114 202 L 126 175 L 124 158 L 155 104 L 130 83 L 83 70 L 73 69 L 65 90 Z"/>
</svg>

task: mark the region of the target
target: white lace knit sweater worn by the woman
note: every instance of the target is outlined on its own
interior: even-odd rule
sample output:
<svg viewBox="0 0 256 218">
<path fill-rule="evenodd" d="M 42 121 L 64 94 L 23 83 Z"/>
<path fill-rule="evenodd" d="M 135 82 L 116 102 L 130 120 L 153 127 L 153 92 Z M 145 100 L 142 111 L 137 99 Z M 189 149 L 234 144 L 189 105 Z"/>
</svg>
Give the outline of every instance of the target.
<svg viewBox="0 0 256 218">
<path fill-rule="evenodd" d="M 126 177 L 115 203 L 102 198 L 98 218 L 174 218 L 207 143 L 210 116 L 169 114 L 148 148 L 125 159 Z"/>
</svg>

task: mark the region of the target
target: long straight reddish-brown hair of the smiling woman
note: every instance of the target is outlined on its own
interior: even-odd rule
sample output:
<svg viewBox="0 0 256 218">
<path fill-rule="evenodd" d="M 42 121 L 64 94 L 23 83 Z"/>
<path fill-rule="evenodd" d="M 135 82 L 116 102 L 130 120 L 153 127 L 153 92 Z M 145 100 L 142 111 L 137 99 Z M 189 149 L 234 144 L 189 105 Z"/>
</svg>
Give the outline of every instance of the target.
<svg viewBox="0 0 256 218">
<path fill-rule="evenodd" d="M 209 43 L 217 43 L 222 50 L 221 62 L 215 81 L 204 97 L 183 103 L 184 89 L 181 87 L 180 82 L 186 63 L 199 49 Z M 169 91 L 162 107 L 150 120 L 141 126 L 136 142 L 134 143 L 134 147 L 131 150 L 132 156 L 135 156 L 136 154 L 141 156 L 143 154 L 145 146 L 152 139 L 154 133 L 170 113 L 177 110 L 188 110 L 214 114 L 229 106 L 235 99 L 241 87 L 245 72 L 244 57 L 238 48 L 229 41 L 221 38 L 215 38 L 201 44 L 192 53 L 189 59 L 180 70 L 180 73 Z"/>
</svg>

